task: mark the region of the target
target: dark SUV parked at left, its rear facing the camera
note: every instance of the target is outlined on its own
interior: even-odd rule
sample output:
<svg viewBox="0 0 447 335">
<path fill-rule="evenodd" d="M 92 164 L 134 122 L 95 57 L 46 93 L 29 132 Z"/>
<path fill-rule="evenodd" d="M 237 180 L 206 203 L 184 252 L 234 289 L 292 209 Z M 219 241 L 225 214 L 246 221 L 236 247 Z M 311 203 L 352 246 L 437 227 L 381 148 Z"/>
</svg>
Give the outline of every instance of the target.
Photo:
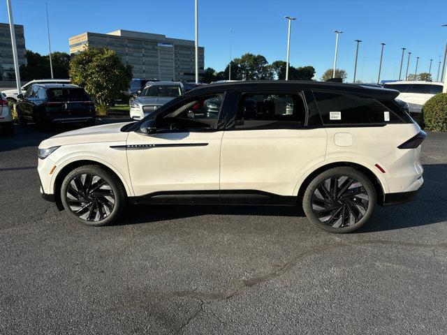
<svg viewBox="0 0 447 335">
<path fill-rule="evenodd" d="M 34 84 L 17 98 L 17 115 L 21 124 L 82 123 L 92 126 L 95 123 L 94 102 L 77 85 Z"/>
</svg>

